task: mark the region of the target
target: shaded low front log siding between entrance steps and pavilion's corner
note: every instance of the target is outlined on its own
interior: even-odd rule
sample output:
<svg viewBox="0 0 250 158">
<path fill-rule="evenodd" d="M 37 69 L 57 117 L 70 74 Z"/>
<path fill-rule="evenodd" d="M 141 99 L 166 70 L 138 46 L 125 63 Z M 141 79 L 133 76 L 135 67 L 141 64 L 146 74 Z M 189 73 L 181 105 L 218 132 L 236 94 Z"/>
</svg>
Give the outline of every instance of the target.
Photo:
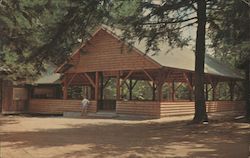
<svg viewBox="0 0 250 158">
<path fill-rule="evenodd" d="M 117 101 L 116 113 L 160 117 L 160 103 L 154 101 Z"/>
</svg>

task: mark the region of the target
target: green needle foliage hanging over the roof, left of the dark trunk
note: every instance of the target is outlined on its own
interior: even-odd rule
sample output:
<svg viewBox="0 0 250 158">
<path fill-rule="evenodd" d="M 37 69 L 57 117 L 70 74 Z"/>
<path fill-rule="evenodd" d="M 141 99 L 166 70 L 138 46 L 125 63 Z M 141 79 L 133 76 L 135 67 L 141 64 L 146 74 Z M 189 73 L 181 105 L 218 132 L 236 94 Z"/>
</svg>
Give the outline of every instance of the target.
<svg viewBox="0 0 250 158">
<path fill-rule="evenodd" d="M 194 1 L 127 0 L 117 4 L 112 24 L 124 31 L 124 39 L 131 44 L 135 40 L 146 40 L 147 52 L 159 51 L 159 43 L 172 47 L 187 45 L 189 38 L 183 36 L 183 29 L 196 23 L 191 5 Z"/>
</svg>

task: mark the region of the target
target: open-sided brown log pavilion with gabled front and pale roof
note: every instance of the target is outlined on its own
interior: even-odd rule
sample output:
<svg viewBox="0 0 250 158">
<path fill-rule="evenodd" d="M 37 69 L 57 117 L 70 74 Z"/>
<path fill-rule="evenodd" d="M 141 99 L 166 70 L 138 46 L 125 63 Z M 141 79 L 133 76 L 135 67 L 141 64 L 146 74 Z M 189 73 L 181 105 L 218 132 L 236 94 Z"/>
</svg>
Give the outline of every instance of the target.
<svg viewBox="0 0 250 158">
<path fill-rule="evenodd" d="M 56 70 L 56 73 L 63 75 L 63 100 L 31 99 L 29 112 L 60 114 L 80 111 L 80 100 L 68 98 L 68 87 L 78 85 L 87 87 L 86 95 L 91 100 L 88 110 L 92 113 L 109 110 L 116 114 L 152 118 L 193 114 L 194 53 L 187 48 L 174 49 L 167 53 L 167 46 L 162 45 L 157 55 L 150 53 L 146 55 L 143 42 L 131 47 L 121 40 L 120 35 L 119 30 L 100 27 Z M 111 79 L 116 82 L 115 99 L 105 100 L 104 88 Z M 242 111 L 244 102 L 234 99 L 236 82 L 242 79 L 243 77 L 235 70 L 206 55 L 207 112 Z M 150 100 L 133 99 L 133 89 L 140 80 L 150 85 L 152 89 Z M 219 82 L 228 83 L 230 100 L 216 100 L 216 85 Z M 171 95 L 167 99 L 162 93 L 165 84 L 171 89 Z M 177 101 L 175 91 L 181 84 L 188 86 L 190 98 Z M 124 98 L 121 94 L 124 86 L 129 90 L 128 98 Z M 213 96 L 211 100 L 208 100 L 209 92 Z"/>
</svg>

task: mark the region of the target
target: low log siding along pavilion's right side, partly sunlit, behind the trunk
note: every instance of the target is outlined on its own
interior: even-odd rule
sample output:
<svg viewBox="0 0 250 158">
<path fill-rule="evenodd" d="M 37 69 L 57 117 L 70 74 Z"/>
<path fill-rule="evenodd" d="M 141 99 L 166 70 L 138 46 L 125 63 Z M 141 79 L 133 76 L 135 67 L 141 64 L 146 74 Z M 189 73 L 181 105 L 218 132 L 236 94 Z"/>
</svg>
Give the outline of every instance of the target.
<svg viewBox="0 0 250 158">
<path fill-rule="evenodd" d="M 208 101 L 207 112 L 243 111 L 244 101 Z M 161 102 L 160 116 L 182 116 L 194 114 L 194 102 Z"/>
</svg>

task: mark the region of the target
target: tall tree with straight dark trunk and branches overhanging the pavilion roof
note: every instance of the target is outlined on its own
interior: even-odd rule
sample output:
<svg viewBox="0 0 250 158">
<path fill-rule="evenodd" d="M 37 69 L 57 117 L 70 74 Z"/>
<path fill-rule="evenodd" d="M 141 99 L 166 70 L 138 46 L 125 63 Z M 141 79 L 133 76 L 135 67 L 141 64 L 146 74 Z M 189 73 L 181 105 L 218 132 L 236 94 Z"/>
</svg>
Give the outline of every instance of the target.
<svg viewBox="0 0 250 158">
<path fill-rule="evenodd" d="M 197 26 L 195 50 L 195 116 L 194 123 L 207 121 L 204 98 L 204 59 L 206 34 L 206 7 L 214 2 L 206 0 L 133 1 L 137 6 L 133 14 L 120 17 L 118 24 L 127 39 L 146 40 L 147 51 L 157 53 L 159 42 L 172 47 L 183 47 L 189 38 L 185 29 Z M 117 18 L 117 17 L 116 17 Z M 133 42 L 133 40 L 132 40 Z"/>
</svg>

